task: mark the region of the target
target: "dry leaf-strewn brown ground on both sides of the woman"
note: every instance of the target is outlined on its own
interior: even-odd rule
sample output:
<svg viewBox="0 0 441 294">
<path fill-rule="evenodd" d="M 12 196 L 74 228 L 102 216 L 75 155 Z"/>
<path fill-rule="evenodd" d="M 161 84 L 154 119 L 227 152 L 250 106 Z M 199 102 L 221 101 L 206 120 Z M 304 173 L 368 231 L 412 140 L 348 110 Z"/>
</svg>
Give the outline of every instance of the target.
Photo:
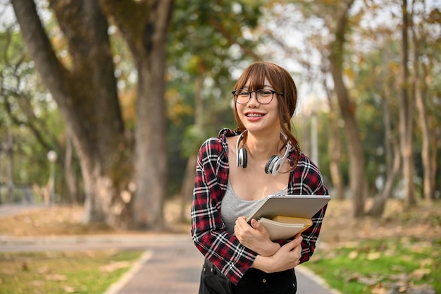
<svg viewBox="0 0 441 294">
<path fill-rule="evenodd" d="M 406 209 L 404 203 L 399 200 L 390 200 L 385 209 L 385 214 L 381 218 L 364 217 L 361 219 L 354 219 L 351 214 L 351 202 L 349 200 L 331 200 L 328 204 L 328 209 L 323 221 L 321 236 L 319 243 L 321 250 L 314 254 L 314 261 L 319 264 L 320 260 L 333 260 L 335 255 L 335 248 L 350 248 L 348 255 L 349 259 L 356 259 L 358 255 L 366 256 L 368 260 L 379 260 L 380 253 L 378 248 L 371 250 L 368 247 L 362 247 L 361 250 L 355 250 L 359 247 L 365 239 L 381 239 L 399 240 L 406 244 L 411 244 L 412 252 L 421 250 L 421 248 L 436 247 L 440 243 L 441 235 L 441 201 L 427 204 L 421 202 L 418 206 L 411 209 Z M 190 234 L 190 204 L 186 204 L 184 212 L 186 213 L 185 221 L 180 221 L 181 205 L 179 201 L 169 201 L 166 203 L 165 219 L 167 223 L 167 230 L 161 233 L 187 233 Z M 0 218 L 0 235 L 15 235 L 15 236 L 37 236 L 37 235 L 80 235 L 80 234 L 106 234 L 106 233 L 143 233 L 143 234 L 158 234 L 157 231 L 115 231 L 104 226 L 84 226 L 81 223 L 82 207 L 79 206 L 63 206 L 56 205 L 54 207 L 44 207 L 38 209 L 27 210 L 23 213 L 14 216 L 7 216 Z M 407 240 L 413 240 L 409 243 Z M 369 244 L 372 244 L 369 243 Z M 382 245 L 383 248 L 384 245 Z M 368 251 L 366 251 L 368 250 Z M 387 253 L 387 252 L 386 252 Z M 387 256 L 387 254 L 385 254 Z M 438 258 L 439 255 L 433 255 Z M 428 282 L 414 285 L 413 276 L 418 275 L 416 280 L 420 281 L 423 276 L 430 274 L 433 269 L 428 265 L 433 264 L 430 258 L 411 259 L 407 255 L 403 255 L 406 260 L 410 258 L 412 265 L 418 264 L 420 267 L 416 270 L 412 269 L 409 272 L 402 272 L 399 275 L 395 274 L 397 265 L 393 266 L 393 270 L 387 271 L 387 274 L 380 275 L 374 271 L 373 276 L 363 275 L 348 269 L 340 269 L 337 271 L 326 271 L 333 274 L 340 273 L 338 278 L 334 276 L 328 277 L 327 281 L 357 281 L 361 283 L 366 289 L 370 289 L 375 294 L 386 293 L 430 293 L 433 294 L 434 289 Z M 363 257 L 364 258 L 364 257 Z M 438 264 L 439 264 L 439 259 Z M 313 263 L 309 262 L 312 266 Z M 370 267 L 375 267 L 375 263 L 369 263 Z M 328 265 L 326 267 L 328 269 Z M 320 269 L 316 269 L 320 272 Z M 400 268 L 399 271 L 402 271 Z M 372 271 L 368 271 L 371 273 Z M 435 271 L 433 271 L 435 273 Z M 437 270 L 436 273 L 439 271 Z M 323 274 L 324 271 L 321 272 Z M 439 276 L 439 274 L 435 274 Z M 378 278 L 387 278 L 387 283 Z M 403 281 L 404 278 L 404 281 Z M 398 280 L 397 280 L 398 279 Z M 385 280 L 386 281 L 386 280 Z M 432 280 L 430 280 L 432 281 Z M 439 284 L 438 284 L 439 285 Z M 398 287 L 398 288 L 397 288 Z M 419 287 L 419 288 L 418 288 Z M 422 287 L 428 289 L 422 292 Z M 392 288 L 400 289 L 399 292 L 391 292 Z M 411 290 L 419 289 L 419 292 L 412 292 Z M 402 290 L 406 289 L 406 291 Z M 363 292 L 368 293 L 368 292 Z"/>
</svg>

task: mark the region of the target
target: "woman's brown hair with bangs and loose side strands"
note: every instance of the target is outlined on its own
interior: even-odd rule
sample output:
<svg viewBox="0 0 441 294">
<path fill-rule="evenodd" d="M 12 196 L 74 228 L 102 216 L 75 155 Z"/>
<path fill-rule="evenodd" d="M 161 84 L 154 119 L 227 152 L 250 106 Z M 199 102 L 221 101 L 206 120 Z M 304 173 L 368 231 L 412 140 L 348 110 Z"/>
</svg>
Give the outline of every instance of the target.
<svg viewBox="0 0 441 294">
<path fill-rule="evenodd" d="M 285 68 L 282 68 L 275 63 L 268 61 L 258 61 L 251 64 L 245 71 L 240 75 L 237 80 L 234 90 L 243 89 L 245 83 L 249 80 L 251 84 L 248 90 L 259 90 L 265 85 L 265 78 L 271 83 L 275 91 L 281 92 L 282 95 L 278 95 L 278 111 L 279 120 L 282 128 L 282 133 L 284 133 L 291 145 L 294 147 L 294 164 L 292 169 L 297 165 L 299 161 L 300 147 L 297 138 L 292 134 L 292 123 L 291 118 L 294 115 L 294 111 L 297 107 L 297 87 L 295 85 L 292 76 Z M 237 105 L 235 104 L 235 119 L 237 123 L 237 130 L 243 132 L 245 127 L 240 121 L 237 114 Z M 244 142 L 247 140 L 247 134 L 244 134 Z M 283 140 L 283 138 L 282 138 Z M 286 144 L 286 142 L 285 142 Z"/>
</svg>

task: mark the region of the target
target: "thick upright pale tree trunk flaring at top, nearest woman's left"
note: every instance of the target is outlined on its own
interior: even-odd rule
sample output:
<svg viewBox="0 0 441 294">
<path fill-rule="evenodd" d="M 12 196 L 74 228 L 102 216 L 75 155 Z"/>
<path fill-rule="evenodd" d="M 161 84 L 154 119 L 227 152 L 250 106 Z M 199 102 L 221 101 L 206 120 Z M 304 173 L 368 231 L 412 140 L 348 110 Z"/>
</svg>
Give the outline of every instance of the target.
<svg viewBox="0 0 441 294">
<path fill-rule="evenodd" d="M 167 188 L 166 32 L 172 0 L 101 0 L 128 42 L 138 72 L 133 226 L 161 229 Z"/>
</svg>

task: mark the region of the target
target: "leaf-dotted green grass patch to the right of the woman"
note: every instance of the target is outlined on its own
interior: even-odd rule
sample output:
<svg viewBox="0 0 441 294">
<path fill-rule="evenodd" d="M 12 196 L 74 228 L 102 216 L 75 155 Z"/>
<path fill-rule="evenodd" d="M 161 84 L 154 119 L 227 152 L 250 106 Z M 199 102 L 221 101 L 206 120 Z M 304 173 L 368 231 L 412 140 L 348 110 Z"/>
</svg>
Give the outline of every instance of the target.
<svg viewBox="0 0 441 294">
<path fill-rule="evenodd" d="M 306 267 L 343 294 L 388 293 L 426 287 L 441 293 L 441 238 L 361 240 L 317 250 Z"/>
</svg>

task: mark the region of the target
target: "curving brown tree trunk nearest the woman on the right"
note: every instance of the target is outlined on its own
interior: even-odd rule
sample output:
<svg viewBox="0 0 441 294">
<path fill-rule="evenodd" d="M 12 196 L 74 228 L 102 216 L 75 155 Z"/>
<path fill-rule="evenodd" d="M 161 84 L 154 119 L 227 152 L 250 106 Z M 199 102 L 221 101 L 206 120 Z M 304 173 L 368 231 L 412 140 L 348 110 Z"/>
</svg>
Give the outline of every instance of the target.
<svg viewBox="0 0 441 294">
<path fill-rule="evenodd" d="M 359 128 L 355 118 L 355 105 L 350 101 L 349 93 L 343 82 L 343 56 L 344 35 L 347 30 L 347 14 L 354 1 L 349 0 L 342 4 L 342 11 L 337 13 L 337 27 L 335 28 L 335 40 L 331 44 L 329 56 L 330 70 L 333 75 L 335 92 L 342 118 L 344 130 L 349 143 L 349 180 L 352 196 L 353 216 L 364 215 L 364 202 L 366 198 L 367 180 L 363 146 L 359 135 Z"/>
</svg>

